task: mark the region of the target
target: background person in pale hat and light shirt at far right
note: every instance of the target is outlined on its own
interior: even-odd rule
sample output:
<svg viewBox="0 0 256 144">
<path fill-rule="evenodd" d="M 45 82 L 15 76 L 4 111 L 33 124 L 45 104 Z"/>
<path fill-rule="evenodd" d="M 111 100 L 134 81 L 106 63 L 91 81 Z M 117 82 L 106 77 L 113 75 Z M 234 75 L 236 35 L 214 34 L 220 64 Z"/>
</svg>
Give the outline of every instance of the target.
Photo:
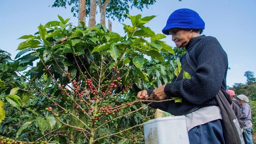
<svg viewBox="0 0 256 144">
<path fill-rule="evenodd" d="M 236 100 L 242 105 L 242 120 L 244 122 L 244 140 L 246 144 L 253 144 L 252 142 L 252 114 L 251 107 L 248 103 L 249 99 L 247 96 L 240 94 L 236 97 Z"/>
</svg>

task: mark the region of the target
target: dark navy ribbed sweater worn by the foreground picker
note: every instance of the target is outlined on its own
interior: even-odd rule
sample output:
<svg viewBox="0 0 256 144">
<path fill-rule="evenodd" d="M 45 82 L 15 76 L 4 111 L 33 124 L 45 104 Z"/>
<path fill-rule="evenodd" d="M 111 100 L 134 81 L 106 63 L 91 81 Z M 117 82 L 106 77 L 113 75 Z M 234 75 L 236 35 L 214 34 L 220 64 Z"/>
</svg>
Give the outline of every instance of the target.
<svg viewBox="0 0 256 144">
<path fill-rule="evenodd" d="M 196 64 L 196 72 L 188 65 L 186 56 L 182 56 L 182 72 L 164 89 L 168 99 L 181 96 L 182 103 L 171 100 L 150 104 L 175 116 L 187 114 L 195 107 L 218 106 L 214 97 L 220 88 L 226 90 L 228 58 L 218 40 L 212 36 L 198 36 L 189 41 L 186 50 Z M 191 79 L 182 78 L 183 70 Z M 148 90 L 149 96 L 151 93 L 152 90 Z"/>
</svg>

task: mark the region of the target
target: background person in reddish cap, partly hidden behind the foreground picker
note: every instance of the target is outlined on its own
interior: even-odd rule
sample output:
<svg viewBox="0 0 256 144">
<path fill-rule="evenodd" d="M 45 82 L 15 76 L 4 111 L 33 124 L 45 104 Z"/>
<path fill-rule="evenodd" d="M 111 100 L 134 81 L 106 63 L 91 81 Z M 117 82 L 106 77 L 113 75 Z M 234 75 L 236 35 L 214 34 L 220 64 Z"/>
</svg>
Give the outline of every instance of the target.
<svg viewBox="0 0 256 144">
<path fill-rule="evenodd" d="M 241 111 L 241 103 L 238 102 L 234 96 L 236 95 L 234 90 L 226 90 L 226 92 L 230 95 L 232 99 L 231 108 L 233 109 L 234 113 L 236 114 L 236 118 L 238 120 L 238 123 L 240 125 L 241 130 L 243 129 L 244 122 L 242 120 L 242 111 Z"/>
</svg>

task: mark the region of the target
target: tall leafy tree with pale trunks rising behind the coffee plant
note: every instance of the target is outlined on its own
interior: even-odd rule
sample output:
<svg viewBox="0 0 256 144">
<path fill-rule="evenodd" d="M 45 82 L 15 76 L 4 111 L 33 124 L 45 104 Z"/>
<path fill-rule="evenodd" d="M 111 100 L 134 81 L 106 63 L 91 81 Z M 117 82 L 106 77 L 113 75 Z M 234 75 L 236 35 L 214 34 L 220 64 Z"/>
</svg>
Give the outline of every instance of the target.
<svg viewBox="0 0 256 144">
<path fill-rule="evenodd" d="M 79 3 L 81 0 L 55 0 L 52 7 L 64 7 L 67 5 L 72 6 L 71 12 L 73 16 L 79 16 L 79 12 L 84 12 L 85 16 L 89 16 L 89 25 L 92 26 L 94 24 L 95 16 L 97 13 L 96 6 L 98 5 L 100 8 L 100 23 L 105 25 L 106 18 L 118 19 L 118 21 L 123 21 L 125 18 L 128 18 L 129 10 L 132 8 L 137 8 L 142 11 L 144 7 L 148 8 L 148 6 L 154 4 L 156 0 L 84 0 L 86 5 L 85 11 L 80 11 Z M 91 6 L 93 4 L 93 6 Z M 92 20 L 92 22 L 90 22 Z M 85 21 L 84 21 L 85 22 Z M 94 26 L 94 25 L 93 25 Z"/>
</svg>

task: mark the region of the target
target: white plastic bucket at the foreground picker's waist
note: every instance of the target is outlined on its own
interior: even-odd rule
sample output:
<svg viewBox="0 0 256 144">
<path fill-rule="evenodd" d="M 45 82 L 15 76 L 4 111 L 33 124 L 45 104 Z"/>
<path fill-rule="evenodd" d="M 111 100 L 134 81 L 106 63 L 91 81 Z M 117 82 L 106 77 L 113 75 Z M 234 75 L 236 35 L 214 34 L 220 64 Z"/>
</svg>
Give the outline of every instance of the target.
<svg viewBox="0 0 256 144">
<path fill-rule="evenodd" d="M 189 144 L 185 116 L 168 116 L 144 124 L 145 144 Z"/>
</svg>

